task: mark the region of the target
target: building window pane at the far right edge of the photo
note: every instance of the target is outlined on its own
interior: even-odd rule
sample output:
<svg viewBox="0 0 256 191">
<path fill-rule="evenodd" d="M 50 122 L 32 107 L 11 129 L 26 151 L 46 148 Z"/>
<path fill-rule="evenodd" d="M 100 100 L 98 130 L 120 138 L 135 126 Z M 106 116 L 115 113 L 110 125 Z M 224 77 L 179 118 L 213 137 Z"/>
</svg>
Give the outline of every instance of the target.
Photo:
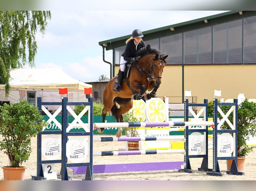
<svg viewBox="0 0 256 191">
<path fill-rule="evenodd" d="M 256 16 L 244 19 L 244 63 L 256 61 Z"/>
</svg>

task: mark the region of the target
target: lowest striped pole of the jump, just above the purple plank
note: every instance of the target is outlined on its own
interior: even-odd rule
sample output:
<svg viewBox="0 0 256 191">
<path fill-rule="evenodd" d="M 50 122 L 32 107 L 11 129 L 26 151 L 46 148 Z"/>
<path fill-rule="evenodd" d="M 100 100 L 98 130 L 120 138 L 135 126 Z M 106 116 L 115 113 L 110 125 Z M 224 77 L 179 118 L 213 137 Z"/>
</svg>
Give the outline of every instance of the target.
<svg viewBox="0 0 256 191">
<path fill-rule="evenodd" d="M 164 149 L 164 150 L 128 150 L 128 151 L 93 152 L 93 156 L 120 156 L 120 155 L 143 155 L 143 154 L 185 154 L 185 150 L 184 149 Z"/>
</svg>

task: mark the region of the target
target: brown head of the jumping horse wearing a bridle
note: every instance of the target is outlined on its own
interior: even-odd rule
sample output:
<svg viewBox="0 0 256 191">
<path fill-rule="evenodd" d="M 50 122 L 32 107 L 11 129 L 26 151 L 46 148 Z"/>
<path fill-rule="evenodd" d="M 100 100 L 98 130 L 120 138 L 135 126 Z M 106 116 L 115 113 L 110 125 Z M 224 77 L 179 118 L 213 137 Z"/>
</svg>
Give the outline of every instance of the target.
<svg viewBox="0 0 256 191">
<path fill-rule="evenodd" d="M 152 60 L 151 71 L 152 78 L 154 79 L 154 86 L 159 86 L 161 84 L 163 68 L 165 66 L 165 59 L 167 57 L 168 55 L 163 56 L 157 53 Z"/>
</svg>

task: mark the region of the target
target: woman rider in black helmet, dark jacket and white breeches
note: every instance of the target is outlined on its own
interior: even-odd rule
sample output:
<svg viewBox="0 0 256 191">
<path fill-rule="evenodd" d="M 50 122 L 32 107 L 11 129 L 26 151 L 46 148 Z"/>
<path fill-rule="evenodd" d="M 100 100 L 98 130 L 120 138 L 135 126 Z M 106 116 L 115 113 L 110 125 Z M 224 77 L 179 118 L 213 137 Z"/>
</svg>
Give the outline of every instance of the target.
<svg viewBox="0 0 256 191">
<path fill-rule="evenodd" d="M 137 51 L 146 46 L 144 41 L 141 39 L 142 37 L 144 37 L 144 35 L 142 34 L 141 30 L 135 29 L 132 32 L 132 37 L 125 41 L 126 47 L 124 53 L 121 55 L 120 69 L 118 71 L 117 84 L 113 88 L 114 91 L 120 92 L 121 90 L 121 83 L 124 78 L 126 63 L 131 62 L 136 64 L 137 60 L 135 57 L 137 56 Z"/>
</svg>

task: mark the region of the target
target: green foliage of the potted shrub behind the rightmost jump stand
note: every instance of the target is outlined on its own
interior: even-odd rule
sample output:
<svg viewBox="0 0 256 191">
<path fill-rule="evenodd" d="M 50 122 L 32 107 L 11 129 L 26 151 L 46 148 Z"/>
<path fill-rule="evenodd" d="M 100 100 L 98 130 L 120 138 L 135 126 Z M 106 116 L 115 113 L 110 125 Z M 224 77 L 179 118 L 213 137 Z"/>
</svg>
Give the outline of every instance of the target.
<svg viewBox="0 0 256 191">
<path fill-rule="evenodd" d="M 231 106 L 220 106 L 222 111 L 226 114 Z M 250 136 L 256 136 L 256 103 L 249 102 L 245 99 L 241 104 L 238 105 L 238 141 L 237 151 L 238 157 L 245 157 L 252 151 L 252 148 L 246 145 L 246 140 Z M 218 113 L 218 117 L 223 117 Z M 233 124 L 233 111 L 229 115 L 228 119 Z M 221 127 L 222 129 L 230 129 L 229 125 L 225 121 Z"/>
</svg>

